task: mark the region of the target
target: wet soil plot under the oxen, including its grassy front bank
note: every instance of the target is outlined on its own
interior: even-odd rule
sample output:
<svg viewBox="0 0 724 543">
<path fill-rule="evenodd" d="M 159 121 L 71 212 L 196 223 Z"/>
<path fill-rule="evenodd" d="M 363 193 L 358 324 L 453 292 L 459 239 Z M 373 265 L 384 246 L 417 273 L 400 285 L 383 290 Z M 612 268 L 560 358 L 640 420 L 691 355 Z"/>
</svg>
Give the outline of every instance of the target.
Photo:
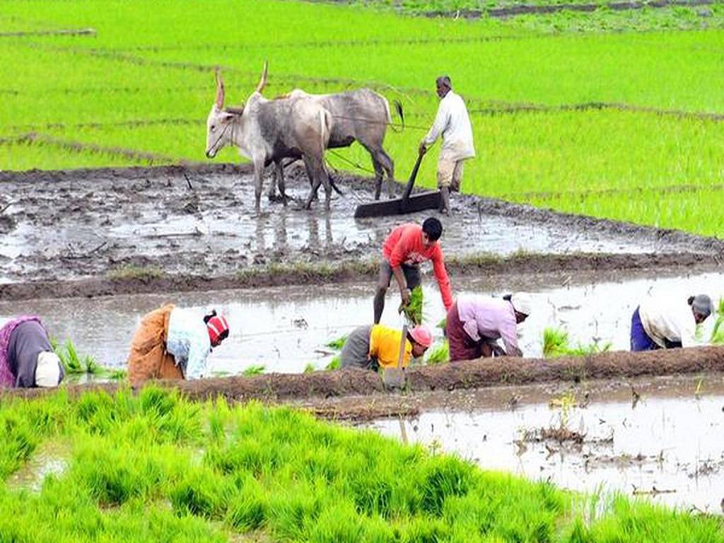
<svg viewBox="0 0 724 543">
<path fill-rule="evenodd" d="M 246 167 L 0 172 L 0 296 L 209 290 L 369 277 L 395 224 L 437 214 L 355 220 L 355 206 L 371 201 L 372 181 L 349 175 L 338 176 L 345 196 L 334 198 L 332 211 L 320 203 L 311 211 L 299 210 L 308 191 L 306 176 L 291 167 L 288 177 L 288 192 L 296 201 L 285 208 L 265 198 L 257 215 Z M 453 208 L 455 216 L 441 217 L 453 271 L 717 264 L 724 249 L 715 238 L 471 195 L 455 198 Z"/>
</svg>

